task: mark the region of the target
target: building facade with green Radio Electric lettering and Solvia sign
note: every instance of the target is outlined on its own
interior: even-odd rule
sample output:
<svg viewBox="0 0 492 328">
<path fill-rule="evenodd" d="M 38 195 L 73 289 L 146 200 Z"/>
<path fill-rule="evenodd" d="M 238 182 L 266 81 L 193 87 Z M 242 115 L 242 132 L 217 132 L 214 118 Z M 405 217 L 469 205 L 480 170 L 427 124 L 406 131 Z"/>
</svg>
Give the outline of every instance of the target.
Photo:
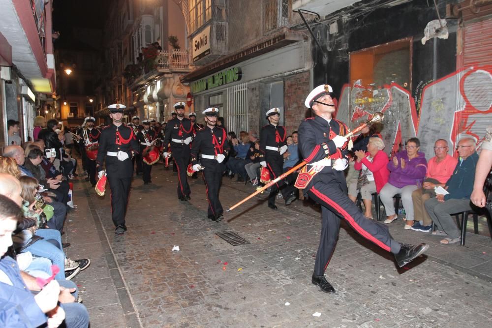
<svg viewBox="0 0 492 328">
<path fill-rule="evenodd" d="M 190 85 L 197 113 L 217 107 L 228 131 L 239 133 L 259 131 L 267 123 L 265 113 L 278 107 L 280 124 L 288 133 L 297 130 L 307 113 L 303 102 L 312 87 L 312 60 L 292 1 L 185 4 L 194 69 L 182 80 Z"/>
</svg>

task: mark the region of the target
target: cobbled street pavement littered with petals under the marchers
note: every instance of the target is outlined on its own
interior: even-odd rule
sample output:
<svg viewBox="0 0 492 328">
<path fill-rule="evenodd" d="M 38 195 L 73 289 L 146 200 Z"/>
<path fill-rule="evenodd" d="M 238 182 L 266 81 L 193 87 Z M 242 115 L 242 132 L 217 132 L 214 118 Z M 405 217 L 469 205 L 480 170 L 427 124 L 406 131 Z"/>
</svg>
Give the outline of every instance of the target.
<svg viewBox="0 0 492 328">
<path fill-rule="evenodd" d="M 392 254 L 342 223 L 326 271 L 337 293 L 327 295 L 310 282 L 319 209 L 279 199 L 273 211 L 261 195 L 215 223 L 206 219 L 203 180 L 189 179 L 191 201 L 180 202 L 172 170 L 156 164 L 152 179 L 144 186 L 135 177 L 123 237 L 114 235 L 109 193 L 75 183 L 69 256 L 92 260 L 75 278 L 92 328 L 492 326 L 488 236 L 440 245 L 395 221 L 395 239 L 431 244 L 428 256 L 397 269 Z M 220 199 L 228 208 L 252 191 L 224 178 Z M 249 243 L 230 245 L 215 235 L 224 230 Z"/>
</svg>

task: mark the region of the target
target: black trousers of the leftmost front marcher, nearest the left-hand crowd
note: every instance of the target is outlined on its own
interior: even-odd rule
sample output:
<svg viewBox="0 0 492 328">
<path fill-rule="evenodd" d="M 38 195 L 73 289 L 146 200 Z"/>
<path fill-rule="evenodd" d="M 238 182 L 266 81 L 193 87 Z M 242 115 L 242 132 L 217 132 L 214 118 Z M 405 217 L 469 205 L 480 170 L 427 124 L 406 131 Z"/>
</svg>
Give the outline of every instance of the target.
<svg viewBox="0 0 492 328">
<path fill-rule="evenodd" d="M 131 178 L 111 177 L 108 174 L 109 187 L 111 188 L 111 216 L 115 227 L 124 226 L 124 217 L 130 195 Z"/>
</svg>

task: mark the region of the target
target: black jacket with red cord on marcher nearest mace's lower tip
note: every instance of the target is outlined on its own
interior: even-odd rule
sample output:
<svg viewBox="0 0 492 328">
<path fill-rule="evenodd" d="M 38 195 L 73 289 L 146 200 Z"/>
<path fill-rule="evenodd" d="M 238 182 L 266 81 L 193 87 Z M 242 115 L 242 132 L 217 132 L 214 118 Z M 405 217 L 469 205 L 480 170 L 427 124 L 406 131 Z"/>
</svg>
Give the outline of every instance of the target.
<svg viewBox="0 0 492 328">
<path fill-rule="evenodd" d="M 215 138 L 214 138 L 215 136 Z M 193 165 L 199 164 L 198 153 L 205 155 L 218 155 L 224 154 L 227 157 L 229 152 L 229 143 L 227 142 L 227 132 L 225 129 L 215 126 L 214 129 L 206 126 L 201 130 L 196 131 L 195 140 L 193 140 L 193 145 L 191 146 L 191 162 Z M 202 158 L 202 164 L 206 162 L 218 164 L 215 159 L 205 159 Z M 223 163 L 223 162 L 222 162 Z"/>
</svg>

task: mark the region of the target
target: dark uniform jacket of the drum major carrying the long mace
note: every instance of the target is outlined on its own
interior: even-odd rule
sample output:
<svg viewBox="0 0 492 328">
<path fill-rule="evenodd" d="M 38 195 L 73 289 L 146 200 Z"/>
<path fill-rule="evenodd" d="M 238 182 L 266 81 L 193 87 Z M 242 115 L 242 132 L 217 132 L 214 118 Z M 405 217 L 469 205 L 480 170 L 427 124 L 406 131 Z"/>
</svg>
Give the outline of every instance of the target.
<svg viewBox="0 0 492 328">
<path fill-rule="evenodd" d="M 348 151 L 346 149 L 346 143 L 343 145 L 344 149 L 340 150 L 331 141 L 336 135 L 343 136 L 347 133 L 348 129 L 345 123 L 337 119 L 331 119 L 328 122 L 326 119 L 315 116 L 314 118 L 308 118 L 301 122 L 299 126 L 299 149 L 304 160 L 307 162 L 307 168 L 310 168 L 309 164 L 320 161 L 328 156 L 330 156 L 330 159 L 347 159 Z M 332 169 L 331 166 L 325 166 L 309 182 L 306 190 L 316 181 L 321 180 L 328 183 L 334 179 L 338 180 L 338 182 L 341 182 L 340 179 L 342 179 L 344 182 L 343 171 L 337 171 Z"/>
</svg>

